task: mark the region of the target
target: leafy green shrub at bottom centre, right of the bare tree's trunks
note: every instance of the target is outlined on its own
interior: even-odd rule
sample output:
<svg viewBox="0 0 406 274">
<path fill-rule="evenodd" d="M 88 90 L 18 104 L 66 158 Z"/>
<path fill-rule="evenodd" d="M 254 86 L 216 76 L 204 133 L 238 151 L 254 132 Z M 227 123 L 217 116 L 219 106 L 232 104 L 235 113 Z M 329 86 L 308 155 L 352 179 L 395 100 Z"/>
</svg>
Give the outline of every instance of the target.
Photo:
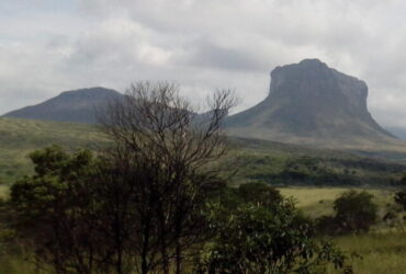
<svg viewBox="0 0 406 274">
<path fill-rule="evenodd" d="M 324 273 L 327 263 L 345 266 L 343 253 L 316 240 L 312 221 L 292 201 L 280 202 L 278 210 L 243 204 L 226 218 L 224 208 L 212 210 L 217 235 L 199 258 L 196 273 Z"/>
</svg>

